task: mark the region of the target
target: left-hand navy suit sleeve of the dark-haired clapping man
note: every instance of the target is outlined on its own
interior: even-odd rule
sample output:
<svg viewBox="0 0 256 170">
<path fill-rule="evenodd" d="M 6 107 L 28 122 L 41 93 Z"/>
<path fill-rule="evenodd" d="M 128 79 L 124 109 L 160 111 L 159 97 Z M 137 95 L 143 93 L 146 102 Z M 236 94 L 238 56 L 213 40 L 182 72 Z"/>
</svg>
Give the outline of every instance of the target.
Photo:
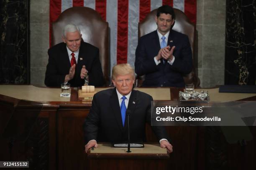
<svg viewBox="0 0 256 170">
<path fill-rule="evenodd" d="M 149 57 L 146 53 L 146 42 L 141 38 L 135 52 L 135 72 L 137 75 L 145 75 L 159 70 L 160 65 L 156 65 L 154 57 Z"/>
</svg>

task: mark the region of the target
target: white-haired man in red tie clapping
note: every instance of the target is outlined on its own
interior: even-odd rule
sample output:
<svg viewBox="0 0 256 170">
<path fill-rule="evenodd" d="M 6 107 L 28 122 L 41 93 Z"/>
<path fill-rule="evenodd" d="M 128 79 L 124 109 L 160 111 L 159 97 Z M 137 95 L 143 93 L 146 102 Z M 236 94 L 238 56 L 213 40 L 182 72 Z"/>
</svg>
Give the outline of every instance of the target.
<svg viewBox="0 0 256 170">
<path fill-rule="evenodd" d="M 48 50 L 49 62 L 46 67 L 45 85 L 59 87 L 61 83 L 69 83 L 71 87 L 104 84 L 99 49 L 89 43 L 82 42 L 80 29 L 68 24 L 63 29 L 61 42 Z"/>
</svg>

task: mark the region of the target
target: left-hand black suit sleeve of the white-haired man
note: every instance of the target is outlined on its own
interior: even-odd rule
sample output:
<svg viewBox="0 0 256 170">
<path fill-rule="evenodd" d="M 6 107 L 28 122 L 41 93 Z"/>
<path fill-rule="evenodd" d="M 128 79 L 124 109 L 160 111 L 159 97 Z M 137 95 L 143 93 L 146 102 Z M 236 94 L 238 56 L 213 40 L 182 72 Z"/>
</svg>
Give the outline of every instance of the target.
<svg viewBox="0 0 256 170">
<path fill-rule="evenodd" d="M 46 66 L 46 73 L 44 83 L 48 87 L 59 87 L 61 83 L 64 83 L 66 75 L 59 75 L 57 73 L 56 65 L 58 64 L 54 54 L 51 50 L 48 50 L 49 60 Z"/>
</svg>

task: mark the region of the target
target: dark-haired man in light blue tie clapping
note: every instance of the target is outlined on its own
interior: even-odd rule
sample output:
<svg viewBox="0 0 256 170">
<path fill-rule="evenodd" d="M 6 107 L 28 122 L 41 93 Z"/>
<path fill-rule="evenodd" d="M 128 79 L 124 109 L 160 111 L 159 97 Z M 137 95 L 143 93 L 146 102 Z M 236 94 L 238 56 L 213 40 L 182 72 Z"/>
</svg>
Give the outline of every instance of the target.
<svg viewBox="0 0 256 170">
<path fill-rule="evenodd" d="M 135 72 L 145 75 L 142 86 L 184 87 L 183 75 L 192 70 L 192 50 L 187 35 L 172 30 L 175 13 L 163 5 L 155 17 L 157 30 L 140 38 Z"/>
</svg>

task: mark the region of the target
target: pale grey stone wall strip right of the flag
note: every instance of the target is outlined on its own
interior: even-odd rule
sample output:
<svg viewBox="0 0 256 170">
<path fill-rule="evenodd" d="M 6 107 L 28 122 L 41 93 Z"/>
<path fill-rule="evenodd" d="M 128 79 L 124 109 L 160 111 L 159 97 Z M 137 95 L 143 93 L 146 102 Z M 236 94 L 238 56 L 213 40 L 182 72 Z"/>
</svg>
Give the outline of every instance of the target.
<svg viewBox="0 0 256 170">
<path fill-rule="evenodd" d="M 197 0 L 197 58 L 201 87 L 224 84 L 225 0 Z"/>
</svg>

